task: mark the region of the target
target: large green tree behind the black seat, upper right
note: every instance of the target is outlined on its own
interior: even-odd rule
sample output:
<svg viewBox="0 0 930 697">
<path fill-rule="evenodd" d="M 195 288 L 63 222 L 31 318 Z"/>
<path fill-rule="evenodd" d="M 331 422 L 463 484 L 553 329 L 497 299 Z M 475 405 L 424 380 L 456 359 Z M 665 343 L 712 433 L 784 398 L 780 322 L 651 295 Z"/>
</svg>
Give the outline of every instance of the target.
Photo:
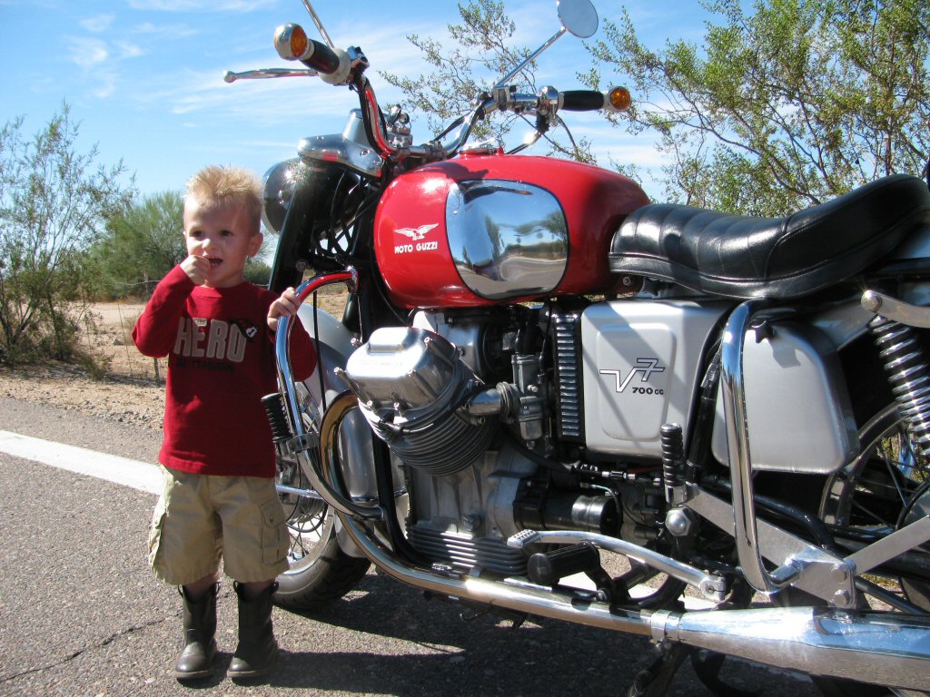
<svg viewBox="0 0 930 697">
<path fill-rule="evenodd" d="M 925 0 L 739 0 L 704 46 L 653 50 L 626 11 L 591 46 L 589 85 L 617 72 L 644 96 L 634 133 L 657 132 L 672 201 L 784 215 L 930 152 L 930 4 Z"/>
</svg>

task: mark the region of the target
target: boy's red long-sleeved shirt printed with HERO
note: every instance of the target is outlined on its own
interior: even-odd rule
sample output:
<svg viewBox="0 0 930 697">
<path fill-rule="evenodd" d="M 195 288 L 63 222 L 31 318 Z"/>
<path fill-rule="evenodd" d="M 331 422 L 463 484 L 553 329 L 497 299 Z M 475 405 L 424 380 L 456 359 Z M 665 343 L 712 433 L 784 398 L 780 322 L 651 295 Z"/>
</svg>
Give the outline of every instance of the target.
<svg viewBox="0 0 930 697">
<path fill-rule="evenodd" d="M 275 294 L 252 283 L 194 285 L 179 266 L 155 287 L 132 330 L 146 356 L 168 357 L 165 467 L 185 472 L 274 477 L 272 429 L 261 398 L 278 389 L 268 308 Z M 291 333 L 296 379 L 316 365 L 300 322 Z"/>
</svg>

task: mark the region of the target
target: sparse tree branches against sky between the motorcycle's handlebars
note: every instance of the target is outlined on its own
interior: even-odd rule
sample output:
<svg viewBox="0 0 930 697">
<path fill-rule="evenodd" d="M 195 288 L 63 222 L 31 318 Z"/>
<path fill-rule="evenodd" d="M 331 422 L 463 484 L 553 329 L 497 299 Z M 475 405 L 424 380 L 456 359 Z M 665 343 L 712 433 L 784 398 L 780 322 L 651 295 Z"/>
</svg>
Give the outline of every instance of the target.
<svg viewBox="0 0 930 697">
<path fill-rule="evenodd" d="M 381 76 L 391 85 L 399 87 L 411 107 L 426 114 L 433 133 L 449 125 L 462 114 L 471 112 L 475 99 L 490 93 L 498 80 L 530 55 L 525 46 L 511 46 L 516 25 L 504 12 L 504 3 L 496 0 L 472 0 L 458 5 L 460 24 L 449 24 L 451 48 L 439 41 L 408 34 L 407 41 L 417 46 L 427 63 L 435 69 L 410 79 L 390 72 Z M 448 42 L 446 42 L 448 45 Z M 536 94 L 538 85 L 536 64 L 529 63 L 512 80 L 518 92 Z M 501 141 L 522 116 L 480 120 L 472 138 L 498 138 Z M 535 123 L 529 122 L 535 127 Z M 569 142 L 550 134 L 547 137 L 551 152 L 582 162 L 593 162 L 590 143 L 584 138 Z"/>
</svg>

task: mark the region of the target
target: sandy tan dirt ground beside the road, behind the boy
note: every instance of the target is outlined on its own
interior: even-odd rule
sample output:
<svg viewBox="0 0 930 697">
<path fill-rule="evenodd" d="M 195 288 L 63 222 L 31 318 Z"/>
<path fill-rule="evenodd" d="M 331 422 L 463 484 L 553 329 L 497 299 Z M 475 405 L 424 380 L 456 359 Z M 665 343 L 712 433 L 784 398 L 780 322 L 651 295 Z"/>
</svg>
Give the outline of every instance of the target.
<svg viewBox="0 0 930 697">
<path fill-rule="evenodd" d="M 344 294 L 321 294 L 320 306 L 339 316 Z M 81 343 L 106 375 L 95 379 L 71 364 L 46 362 L 10 370 L 0 366 L 0 396 L 58 406 L 67 411 L 161 430 L 165 412 L 166 359 L 140 354 L 132 328 L 144 303 L 98 303 L 90 308 Z"/>
</svg>

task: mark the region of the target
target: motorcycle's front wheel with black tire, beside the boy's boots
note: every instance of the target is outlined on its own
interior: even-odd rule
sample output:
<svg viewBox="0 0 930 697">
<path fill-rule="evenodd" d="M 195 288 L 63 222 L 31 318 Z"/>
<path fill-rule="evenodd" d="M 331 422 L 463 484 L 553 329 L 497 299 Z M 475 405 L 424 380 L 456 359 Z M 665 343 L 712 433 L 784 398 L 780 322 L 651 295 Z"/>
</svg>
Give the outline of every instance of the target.
<svg viewBox="0 0 930 697">
<path fill-rule="evenodd" d="M 296 465 L 286 468 L 278 483 L 309 488 Z M 321 610 L 351 591 L 370 562 L 350 557 L 339 547 L 336 515 L 326 502 L 293 493 L 279 493 L 279 497 L 290 533 L 290 569 L 277 578 L 274 603 L 288 610 Z"/>
</svg>

